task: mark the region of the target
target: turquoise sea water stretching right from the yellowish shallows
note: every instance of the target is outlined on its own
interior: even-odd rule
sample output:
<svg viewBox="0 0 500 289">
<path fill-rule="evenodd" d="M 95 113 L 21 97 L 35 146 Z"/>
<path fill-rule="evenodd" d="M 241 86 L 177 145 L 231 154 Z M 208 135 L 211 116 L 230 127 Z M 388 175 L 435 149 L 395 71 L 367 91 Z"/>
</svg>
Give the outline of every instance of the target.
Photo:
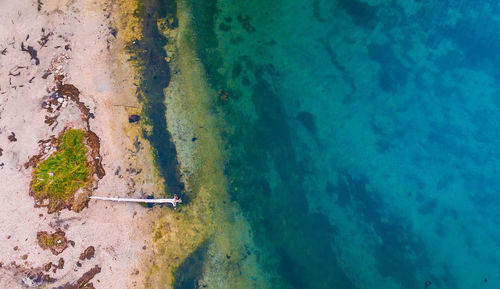
<svg viewBox="0 0 500 289">
<path fill-rule="evenodd" d="M 497 2 L 191 2 L 269 288 L 499 288 Z"/>
</svg>

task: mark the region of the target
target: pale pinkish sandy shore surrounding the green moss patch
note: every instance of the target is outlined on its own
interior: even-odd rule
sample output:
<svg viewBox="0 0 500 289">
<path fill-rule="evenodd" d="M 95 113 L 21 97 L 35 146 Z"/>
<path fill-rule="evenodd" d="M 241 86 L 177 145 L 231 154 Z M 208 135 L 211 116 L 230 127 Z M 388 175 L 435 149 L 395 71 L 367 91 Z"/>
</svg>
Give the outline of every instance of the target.
<svg viewBox="0 0 500 289">
<path fill-rule="evenodd" d="M 74 284 L 95 266 L 100 272 L 89 281 L 95 288 L 142 288 L 156 210 L 91 201 L 80 213 L 48 214 L 29 196 L 32 168 L 24 164 L 40 153 L 38 142 L 65 127 L 86 127 L 81 110 L 69 100 L 57 122 L 45 122 L 54 116 L 42 108 L 53 92 L 54 75 L 65 75 L 64 82 L 78 88 L 93 117 L 89 128 L 100 138 L 106 175 L 95 181 L 93 194 L 144 197 L 162 189 L 140 128 L 127 121 L 139 110 L 133 77 L 120 56 L 116 7 L 108 1 L 42 2 L 37 7 L 33 0 L 0 1 L 0 288 L 26 288 L 28 273 L 54 279 L 48 288 Z M 56 256 L 38 245 L 37 232 L 58 229 L 72 242 Z M 89 246 L 94 257 L 80 260 Z M 54 265 L 46 271 L 50 262 Z"/>
</svg>

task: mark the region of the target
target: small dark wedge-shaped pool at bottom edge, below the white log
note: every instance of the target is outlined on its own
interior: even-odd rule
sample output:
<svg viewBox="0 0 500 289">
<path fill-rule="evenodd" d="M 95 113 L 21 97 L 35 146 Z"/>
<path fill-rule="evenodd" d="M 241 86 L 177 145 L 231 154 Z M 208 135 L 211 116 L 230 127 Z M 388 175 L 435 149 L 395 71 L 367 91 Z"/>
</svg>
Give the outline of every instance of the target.
<svg viewBox="0 0 500 289">
<path fill-rule="evenodd" d="M 203 276 L 203 263 L 207 257 L 208 243 L 202 243 L 189 255 L 175 272 L 174 289 L 197 289 Z M 215 284 L 214 284 L 215 285 Z"/>
</svg>

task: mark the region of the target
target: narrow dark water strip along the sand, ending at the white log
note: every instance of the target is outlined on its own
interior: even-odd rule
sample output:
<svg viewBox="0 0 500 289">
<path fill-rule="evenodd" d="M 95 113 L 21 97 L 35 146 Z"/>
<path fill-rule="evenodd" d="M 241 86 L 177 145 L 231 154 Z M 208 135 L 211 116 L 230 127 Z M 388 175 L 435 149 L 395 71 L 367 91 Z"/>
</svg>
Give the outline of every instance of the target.
<svg viewBox="0 0 500 289">
<path fill-rule="evenodd" d="M 163 47 L 167 39 L 158 31 L 157 19 L 173 17 L 176 19 L 175 1 L 144 0 L 141 8 L 135 11 L 144 20 L 144 38 L 129 44 L 131 54 L 139 58 L 145 67 L 141 75 L 140 95 L 144 97 L 144 114 L 151 120 L 150 133 L 144 136 L 155 150 L 156 163 L 160 174 L 165 179 L 165 189 L 171 194 L 182 197 L 184 184 L 180 180 L 177 151 L 165 119 L 165 96 L 163 89 L 170 82 L 170 68 L 165 61 Z M 175 23 L 176 21 L 174 21 Z M 184 199 L 184 198 L 183 198 Z"/>
</svg>

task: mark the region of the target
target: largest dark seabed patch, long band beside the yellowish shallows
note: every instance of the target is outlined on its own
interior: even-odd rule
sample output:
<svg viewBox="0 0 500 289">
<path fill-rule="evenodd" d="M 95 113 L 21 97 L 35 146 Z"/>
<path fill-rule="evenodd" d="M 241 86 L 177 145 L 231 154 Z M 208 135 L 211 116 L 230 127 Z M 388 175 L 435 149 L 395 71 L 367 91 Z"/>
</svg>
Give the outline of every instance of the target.
<svg viewBox="0 0 500 289">
<path fill-rule="evenodd" d="M 302 165 L 311 163 L 310 159 L 296 160 L 283 104 L 265 80 L 276 76 L 274 68 L 258 67 L 254 76 L 252 101 L 257 120 L 250 122 L 238 110 L 228 111 L 228 122 L 238 127 L 228 136 L 228 145 L 243 146 L 226 166 L 232 181 L 231 198 L 247 213 L 256 242 L 277 250 L 278 271 L 292 288 L 355 288 L 332 251 L 338 229 L 325 215 L 307 209 L 304 175 L 314 171 Z M 282 180 L 276 189 L 265 179 L 269 159 Z"/>
</svg>

